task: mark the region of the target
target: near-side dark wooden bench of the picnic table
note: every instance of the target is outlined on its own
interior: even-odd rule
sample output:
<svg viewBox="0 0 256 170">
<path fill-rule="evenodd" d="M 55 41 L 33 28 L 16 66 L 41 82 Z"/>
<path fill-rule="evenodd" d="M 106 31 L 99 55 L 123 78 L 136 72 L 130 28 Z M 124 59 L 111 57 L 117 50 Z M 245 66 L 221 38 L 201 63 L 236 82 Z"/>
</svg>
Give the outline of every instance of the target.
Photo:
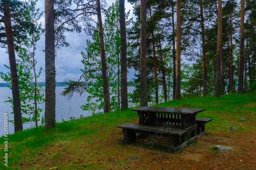
<svg viewBox="0 0 256 170">
<path fill-rule="evenodd" d="M 187 129 L 177 129 L 164 126 L 159 127 L 126 123 L 118 125 L 117 128 L 123 129 L 124 144 L 129 144 L 130 142 L 136 141 L 136 133 L 151 135 L 160 134 L 162 136 L 166 136 L 168 137 L 168 152 L 172 153 L 181 150 L 198 138 L 198 135 L 193 136 L 191 133 L 191 138 L 187 140 L 187 133 L 195 131 L 197 129 L 197 125 L 193 125 Z"/>
</svg>

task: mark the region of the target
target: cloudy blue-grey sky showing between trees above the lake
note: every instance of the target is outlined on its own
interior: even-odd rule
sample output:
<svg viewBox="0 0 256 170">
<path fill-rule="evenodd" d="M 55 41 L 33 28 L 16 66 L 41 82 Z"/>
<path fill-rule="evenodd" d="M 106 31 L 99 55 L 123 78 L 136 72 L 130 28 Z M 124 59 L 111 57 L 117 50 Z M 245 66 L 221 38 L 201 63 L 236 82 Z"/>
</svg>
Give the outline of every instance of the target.
<svg viewBox="0 0 256 170">
<path fill-rule="evenodd" d="M 22 0 L 25 1 L 25 0 Z M 112 5 L 114 0 L 107 0 L 109 6 Z M 45 1 L 38 0 L 37 8 L 41 11 L 44 11 Z M 125 12 L 131 9 L 132 14 L 132 5 L 125 1 Z M 104 17 L 103 17 L 104 19 Z M 45 17 L 44 15 L 41 17 L 40 22 L 42 26 L 45 26 Z M 57 50 L 57 56 L 55 59 L 56 66 L 56 81 L 57 82 L 65 82 L 68 80 L 79 80 L 82 75 L 80 69 L 83 68 L 81 63 L 81 51 L 84 51 L 86 48 L 86 40 L 91 39 L 84 32 L 79 33 L 69 33 L 67 34 L 67 40 L 70 43 L 68 47 L 62 47 Z M 38 79 L 38 82 L 45 82 L 45 53 L 43 50 L 45 49 L 45 36 L 44 34 L 41 36 L 41 39 L 37 42 L 37 50 L 36 50 L 36 60 L 37 60 L 37 70 L 42 67 L 42 74 Z M 17 55 L 16 55 L 17 57 Z M 5 48 L 0 48 L 0 71 L 8 72 L 9 70 L 4 67 L 4 64 L 9 65 L 9 58 L 7 54 L 7 50 Z M 128 78 L 131 78 L 132 75 L 128 75 Z M 0 79 L 0 83 L 4 81 Z"/>
</svg>

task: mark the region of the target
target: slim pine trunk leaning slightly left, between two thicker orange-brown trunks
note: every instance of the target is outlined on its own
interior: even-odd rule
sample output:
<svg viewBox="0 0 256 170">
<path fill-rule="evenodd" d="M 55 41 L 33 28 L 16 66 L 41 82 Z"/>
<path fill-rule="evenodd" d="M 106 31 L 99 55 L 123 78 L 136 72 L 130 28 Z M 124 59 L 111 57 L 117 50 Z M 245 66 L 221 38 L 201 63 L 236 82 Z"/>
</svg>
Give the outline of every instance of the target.
<svg viewBox="0 0 256 170">
<path fill-rule="evenodd" d="M 205 52 L 205 32 L 204 32 L 204 13 L 203 13 L 203 4 L 200 1 L 200 16 L 201 16 L 201 28 L 202 28 L 202 48 L 203 48 L 203 75 L 204 75 L 204 96 L 207 95 L 207 70 L 206 70 L 206 52 Z"/>
</svg>

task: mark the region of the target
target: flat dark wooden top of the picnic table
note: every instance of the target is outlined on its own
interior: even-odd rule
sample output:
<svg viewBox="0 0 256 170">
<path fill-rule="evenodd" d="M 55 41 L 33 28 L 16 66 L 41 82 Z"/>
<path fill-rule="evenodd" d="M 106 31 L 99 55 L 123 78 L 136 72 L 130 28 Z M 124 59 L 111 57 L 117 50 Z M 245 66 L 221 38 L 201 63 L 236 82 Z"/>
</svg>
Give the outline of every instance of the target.
<svg viewBox="0 0 256 170">
<path fill-rule="evenodd" d="M 204 111 L 204 109 L 146 106 L 146 107 L 140 107 L 140 108 L 132 109 L 132 111 L 138 111 L 138 112 L 139 111 L 141 111 L 141 112 L 158 112 L 158 113 L 196 114 L 196 113 Z"/>
</svg>

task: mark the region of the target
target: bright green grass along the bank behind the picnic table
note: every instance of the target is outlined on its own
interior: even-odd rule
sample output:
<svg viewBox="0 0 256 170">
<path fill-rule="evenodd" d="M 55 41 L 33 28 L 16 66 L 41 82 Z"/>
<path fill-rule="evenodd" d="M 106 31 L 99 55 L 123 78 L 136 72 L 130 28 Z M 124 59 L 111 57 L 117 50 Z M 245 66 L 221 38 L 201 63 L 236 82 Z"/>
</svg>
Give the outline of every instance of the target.
<svg viewBox="0 0 256 170">
<path fill-rule="evenodd" d="M 197 117 L 212 118 L 212 121 L 206 124 L 207 132 L 225 131 L 230 126 L 236 128 L 237 131 L 251 132 L 256 129 L 255 96 L 255 94 L 228 94 L 219 98 L 214 96 L 195 97 L 166 102 L 156 106 L 204 109 L 205 111 L 198 113 Z M 239 119 L 243 117 L 246 118 L 245 122 L 240 122 Z M 104 141 L 107 137 L 105 134 L 110 134 L 117 125 L 131 123 L 136 118 L 138 118 L 137 113 L 127 109 L 56 123 L 56 127 L 51 130 L 38 127 L 8 135 L 8 165 L 10 169 L 18 169 L 20 166 L 17 166 L 17 164 L 20 160 L 29 162 L 33 159 L 34 155 L 52 152 L 48 151 L 47 148 L 54 148 L 55 145 L 57 145 L 56 147 L 63 145 L 61 150 L 68 150 L 66 147 L 72 144 L 74 147 L 80 144 L 93 144 L 95 148 L 100 147 L 102 143 L 95 143 L 95 137 L 98 140 Z M 1 143 L 3 143 L 4 138 L 4 136 L 0 138 Z M 79 139 L 79 142 L 75 139 Z M 80 140 L 83 140 L 83 142 L 80 143 Z M 0 146 L 4 148 L 3 144 Z M 115 148 L 120 148 L 121 146 L 122 142 L 117 142 L 111 153 L 114 155 L 116 153 Z M 157 145 L 156 148 L 163 150 L 161 145 Z M 75 153 L 76 150 L 73 150 L 73 152 Z M 101 154 L 108 155 L 109 153 L 108 151 L 101 151 Z M 0 155 L 4 155 L 3 149 L 0 150 Z M 60 153 L 51 153 L 48 159 L 57 159 L 58 157 L 60 157 Z M 85 168 L 95 167 L 96 165 L 94 164 L 88 164 Z M 123 164 L 123 162 L 120 161 L 118 164 Z M 82 165 L 79 166 L 83 167 Z M 97 166 L 99 168 L 103 167 L 103 165 Z M 3 168 L 6 167 L 1 164 L 0 169 Z"/>
</svg>

